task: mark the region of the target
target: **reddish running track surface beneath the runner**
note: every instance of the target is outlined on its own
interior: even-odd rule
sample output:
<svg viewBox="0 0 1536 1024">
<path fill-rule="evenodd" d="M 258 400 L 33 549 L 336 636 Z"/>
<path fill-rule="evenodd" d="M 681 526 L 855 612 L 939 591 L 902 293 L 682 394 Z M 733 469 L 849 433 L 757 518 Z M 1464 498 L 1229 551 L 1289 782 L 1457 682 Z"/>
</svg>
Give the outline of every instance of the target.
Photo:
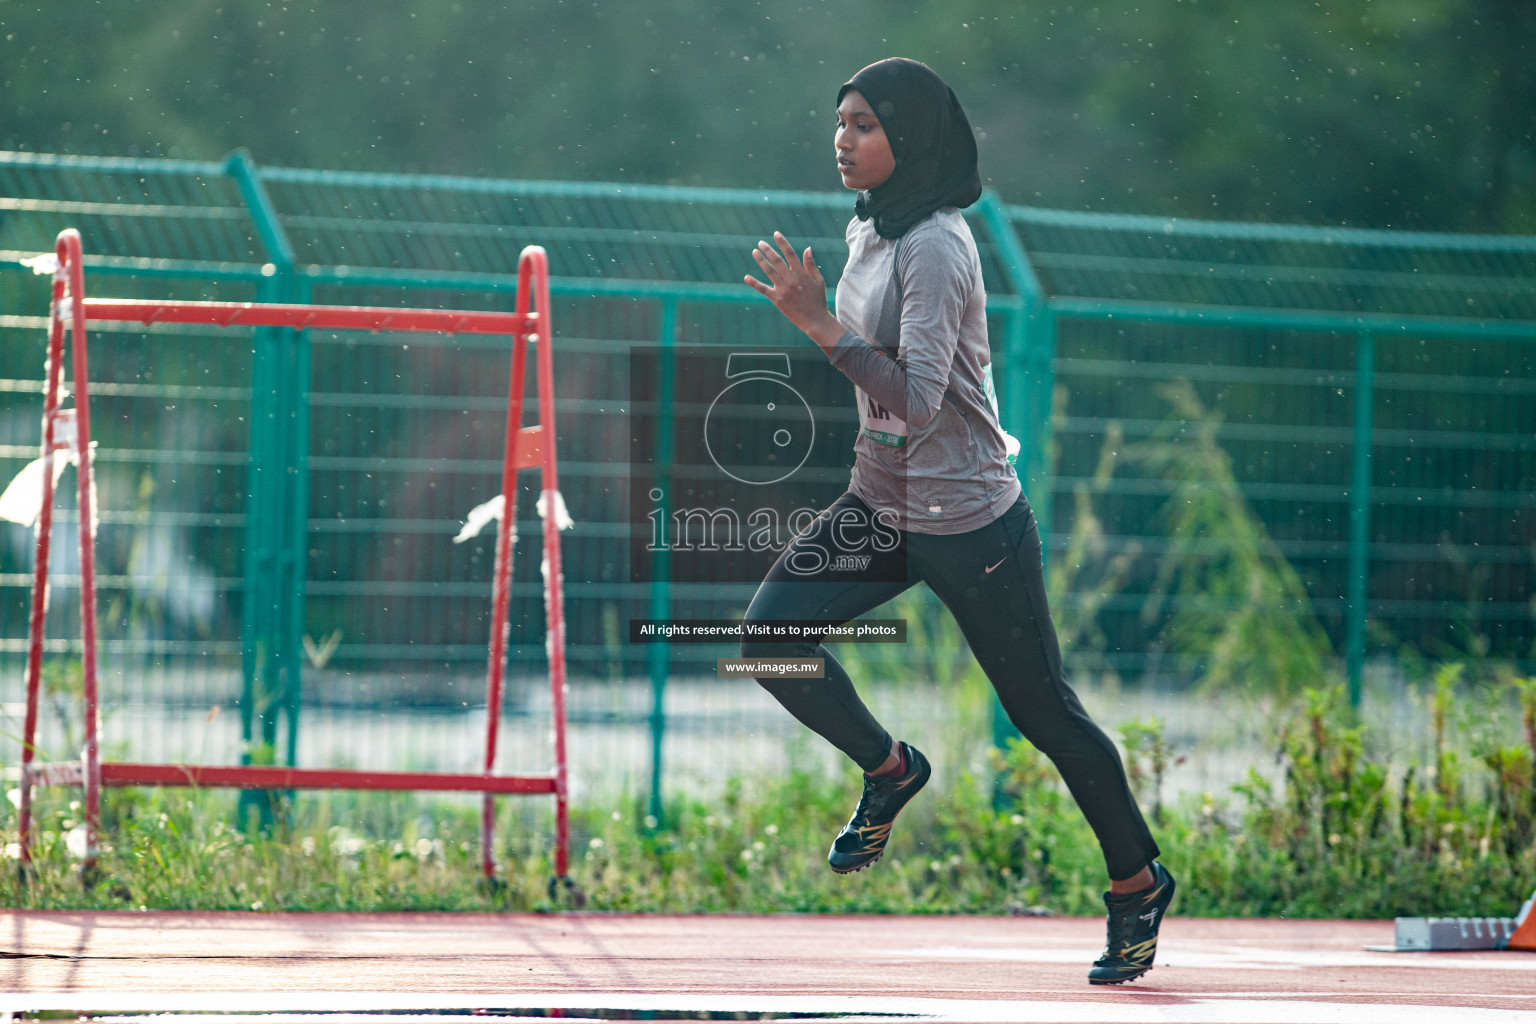
<svg viewBox="0 0 1536 1024">
<path fill-rule="evenodd" d="M 1536 953 L 1364 949 L 1392 940 L 1390 921 L 1174 917 L 1149 975 L 1089 987 L 1091 918 L 0 912 L 0 1012 L 1536 1022 Z"/>
</svg>

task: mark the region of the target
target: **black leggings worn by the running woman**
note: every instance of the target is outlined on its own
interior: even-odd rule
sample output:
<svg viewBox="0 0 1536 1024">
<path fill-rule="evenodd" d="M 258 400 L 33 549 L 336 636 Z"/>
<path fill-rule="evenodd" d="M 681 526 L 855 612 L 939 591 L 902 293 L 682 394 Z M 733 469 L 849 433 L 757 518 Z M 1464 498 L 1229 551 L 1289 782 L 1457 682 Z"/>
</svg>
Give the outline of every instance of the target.
<svg viewBox="0 0 1536 1024">
<path fill-rule="evenodd" d="M 1120 754 L 1061 676 L 1061 649 L 1046 606 L 1040 531 L 1029 502 L 1020 496 L 989 525 L 962 534 L 905 533 L 871 528 L 871 522 L 860 499 L 839 497 L 779 556 L 746 620 L 848 622 L 912 583 L 928 583 L 954 614 L 1009 720 L 1061 772 L 1098 837 L 1109 877 L 1130 878 L 1150 864 L 1158 846 L 1130 794 Z M 871 559 L 854 571 L 816 573 L 826 560 L 823 553 Z M 746 640 L 742 657 L 825 659 L 826 679 L 757 682 L 865 771 L 889 757 L 891 734 L 869 714 L 825 646 L 809 640 Z"/>
</svg>

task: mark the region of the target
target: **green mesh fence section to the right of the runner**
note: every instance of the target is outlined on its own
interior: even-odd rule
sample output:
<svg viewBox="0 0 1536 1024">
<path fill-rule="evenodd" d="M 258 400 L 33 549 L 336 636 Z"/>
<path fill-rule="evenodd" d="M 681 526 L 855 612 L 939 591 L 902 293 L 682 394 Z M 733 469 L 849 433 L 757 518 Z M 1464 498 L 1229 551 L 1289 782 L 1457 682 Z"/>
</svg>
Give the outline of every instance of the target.
<svg viewBox="0 0 1536 1024">
<path fill-rule="evenodd" d="M 1180 602 L 1213 599 L 1149 600 L 1178 482 L 1147 456 L 1164 434 L 1193 448 L 1169 422 L 1187 384 L 1356 674 L 1367 656 L 1530 666 L 1536 239 L 1009 215 L 1057 339 L 1052 548 L 1091 507 L 1100 562 L 1134 554 L 1098 577 L 1107 600 L 1069 597 L 1103 606 L 1081 660 L 1127 676 L 1203 660 L 1160 639 Z M 1200 545 L 1218 559 L 1229 540 Z"/>
</svg>

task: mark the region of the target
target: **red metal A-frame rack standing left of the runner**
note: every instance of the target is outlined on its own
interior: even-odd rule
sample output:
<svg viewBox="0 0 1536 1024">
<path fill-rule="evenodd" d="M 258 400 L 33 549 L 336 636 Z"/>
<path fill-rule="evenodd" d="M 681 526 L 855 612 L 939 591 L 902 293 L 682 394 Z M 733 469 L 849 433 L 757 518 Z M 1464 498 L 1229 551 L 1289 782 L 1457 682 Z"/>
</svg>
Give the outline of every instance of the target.
<svg viewBox="0 0 1536 1024">
<path fill-rule="evenodd" d="M 37 525 L 37 554 L 32 570 L 32 606 L 26 660 L 26 723 L 22 745 L 20 786 L 20 863 L 31 864 L 32 786 L 83 786 L 86 855 L 81 864 L 89 877 L 98 857 L 101 786 L 215 786 L 235 789 L 390 789 L 481 792 L 481 870 L 495 878 L 492 840 L 498 794 L 551 794 L 554 797 L 554 878 L 551 895 L 564 884 L 579 895 L 570 880 L 570 824 L 567 808 L 565 758 L 565 614 L 562 602 L 559 524 L 556 494 L 559 477 L 554 454 L 554 368 L 550 329 L 548 258 L 539 246 L 528 246 L 518 259 L 516 312 L 464 312 L 427 309 L 384 309 L 355 306 L 255 304 L 255 302 L 144 302 L 134 299 L 86 298 L 80 233 L 60 232 L 55 247 L 52 302 L 48 329 L 46 387 L 43 396 L 43 502 Z M 536 302 L 538 309 L 531 309 Z M 88 321 L 127 321 L 140 324 L 269 325 L 332 330 L 410 330 L 444 333 L 511 335 L 511 379 L 507 393 L 507 434 L 502 456 L 502 494 L 507 508 L 496 539 L 496 567 L 492 590 L 490 663 L 485 672 L 487 728 L 485 766 L 479 774 L 373 772 L 339 769 L 272 768 L 255 765 L 143 765 L 101 763 L 97 703 L 97 616 L 95 616 L 95 499 L 91 470 L 91 405 L 86 361 Z M 74 408 L 60 408 L 60 375 L 65 330 L 71 335 L 74 358 Z M 528 341 L 538 341 L 538 419 L 522 427 L 522 393 Z M 84 700 L 84 749 L 80 761 L 35 763 L 37 708 L 43 668 L 43 622 L 48 613 L 48 554 L 54 520 L 54 459 L 72 450 L 78 465 L 80 490 L 80 633 Z M 507 603 L 511 594 L 511 530 L 518 473 L 538 467 L 544 496 L 544 557 L 548 562 L 544 609 L 548 629 L 550 694 L 554 717 L 554 769 L 538 775 L 496 775 L 496 742 L 501 726 L 501 699 L 508 639 Z"/>
</svg>

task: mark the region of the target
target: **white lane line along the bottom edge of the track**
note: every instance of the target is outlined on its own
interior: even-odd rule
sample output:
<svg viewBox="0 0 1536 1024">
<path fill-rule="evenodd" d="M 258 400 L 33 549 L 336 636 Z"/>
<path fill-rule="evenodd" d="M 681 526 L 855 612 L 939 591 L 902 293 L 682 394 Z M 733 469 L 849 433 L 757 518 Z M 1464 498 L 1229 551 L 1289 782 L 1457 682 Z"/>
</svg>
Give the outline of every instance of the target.
<svg viewBox="0 0 1536 1024">
<path fill-rule="evenodd" d="M 1132 995 L 1132 993 L 1124 993 Z M 1470 996 L 1468 996 L 1470 998 Z M 1155 999 L 1155 1001 L 1154 1001 Z M 714 1010 L 725 1013 L 857 1013 L 865 1018 L 903 1015 L 914 1024 L 931 1021 L 983 1021 L 997 1024 L 1402 1024 L 1405 1019 L 1432 1019 L 1435 1024 L 1530 1024 L 1531 1012 L 1464 1006 L 1335 1003 L 1327 999 L 1276 998 L 1209 998 L 1192 996 L 1170 1001 L 1169 993 L 1138 992 L 1115 1001 L 1028 1001 L 1028 999 L 902 999 L 868 996 L 728 996 L 728 995 L 657 995 L 616 992 L 521 992 L 488 993 L 144 993 L 144 992 L 68 992 L 68 993 L 0 993 L 5 1010 L 72 1010 L 78 1013 L 187 1013 L 221 1012 L 229 1022 L 230 1012 L 263 1013 L 347 1013 L 359 1018 L 390 1013 L 404 1022 L 404 1015 L 416 1021 L 422 1012 L 513 1007 L 570 1007 L 608 1010 Z M 335 1019 L 335 1018 L 330 1018 Z M 441 1018 L 438 1018 L 441 1021 Z M 164 1018 L 155 1024 L 166 1024 Z M 177 1024 L 172 1018 L 169 1024 Z M 189 1022 L 190 1024 L 190 1022 Z"/>
</svg>

